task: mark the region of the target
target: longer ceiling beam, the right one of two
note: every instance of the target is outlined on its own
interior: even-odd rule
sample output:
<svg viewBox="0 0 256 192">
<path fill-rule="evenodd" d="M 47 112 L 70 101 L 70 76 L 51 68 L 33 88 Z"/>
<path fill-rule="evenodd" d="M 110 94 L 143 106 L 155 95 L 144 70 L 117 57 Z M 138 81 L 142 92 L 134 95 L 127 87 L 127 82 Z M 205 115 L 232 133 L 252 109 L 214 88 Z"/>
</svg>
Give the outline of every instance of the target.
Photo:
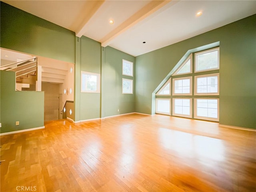
<svg viewBox="0 0 256 192">
<path fill-rule="evenodd" d="M 128 18 L 126 21 L 120 24 L 117 28 L 115 28 L 106 36 L 104 36 L 104 38 L 100 40 L 101 46 L 106 47 L 110 45 L 110 43 L 112 42 L 112 40 L 114 40 L 114 38 L 124 33 L 126 30 L 128 30 L 132 26 L 138 24 L 138 22 L 144 20 L 146 17 L 150 16 L 151 14 L 153 14 L 154 12 L 156 12 L 157 10 L 159 10 L 169 2 L 171 2 L 171 0 L 157 0 L 157 1 L 152 0 L 142 9 L 140 9 L 138 12 L 133 14 L 130 18 Z"/>
</svg>

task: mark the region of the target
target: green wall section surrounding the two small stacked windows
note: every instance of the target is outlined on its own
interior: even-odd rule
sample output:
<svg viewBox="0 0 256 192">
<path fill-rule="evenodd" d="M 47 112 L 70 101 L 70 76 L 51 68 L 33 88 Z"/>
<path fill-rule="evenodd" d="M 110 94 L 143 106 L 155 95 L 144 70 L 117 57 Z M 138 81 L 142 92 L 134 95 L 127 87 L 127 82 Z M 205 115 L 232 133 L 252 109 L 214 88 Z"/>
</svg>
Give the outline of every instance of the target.
<svg viewBox="0 0 256 192">
<path fill-rule="evenodd" d="M 135 57 L 109 46 L 102 52 L 102 117 L 134 112 Z M 133 77 L 122 75 L 122 59 L 133 62 Z M 133 79 L 133 94 L 122 94 L 122 78 Z"/>
</svg>

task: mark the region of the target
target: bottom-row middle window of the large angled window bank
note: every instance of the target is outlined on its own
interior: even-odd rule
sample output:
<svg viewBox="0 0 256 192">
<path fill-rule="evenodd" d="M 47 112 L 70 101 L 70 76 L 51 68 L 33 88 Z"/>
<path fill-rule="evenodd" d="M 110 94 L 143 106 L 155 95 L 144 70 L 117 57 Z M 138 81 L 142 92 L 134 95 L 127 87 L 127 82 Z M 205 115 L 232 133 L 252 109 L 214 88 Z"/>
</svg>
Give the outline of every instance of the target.
<svg viewBox="0 0 256 192">
<path fill-rule="evenodd" d="M 173 98 L 172 102 L 172 115 L 173 116 L 180 116 L 180 117 L 188 117 L 192 118 L 192 99 L 180 99 L 180 98 Z"/>
</svg>

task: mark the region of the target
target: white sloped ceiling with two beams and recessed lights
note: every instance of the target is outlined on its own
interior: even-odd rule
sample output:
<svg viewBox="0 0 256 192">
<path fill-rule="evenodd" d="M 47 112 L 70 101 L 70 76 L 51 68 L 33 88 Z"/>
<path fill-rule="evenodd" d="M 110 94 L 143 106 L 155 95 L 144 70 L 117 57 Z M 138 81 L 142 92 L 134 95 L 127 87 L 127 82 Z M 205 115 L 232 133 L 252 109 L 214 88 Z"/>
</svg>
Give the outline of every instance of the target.
<svg viewBox="0 0 256 192">
<path fill-rule="evenodd" d="M 133 56 L 256 14 L 255 0 L 2 1 Z"/>
</svg>

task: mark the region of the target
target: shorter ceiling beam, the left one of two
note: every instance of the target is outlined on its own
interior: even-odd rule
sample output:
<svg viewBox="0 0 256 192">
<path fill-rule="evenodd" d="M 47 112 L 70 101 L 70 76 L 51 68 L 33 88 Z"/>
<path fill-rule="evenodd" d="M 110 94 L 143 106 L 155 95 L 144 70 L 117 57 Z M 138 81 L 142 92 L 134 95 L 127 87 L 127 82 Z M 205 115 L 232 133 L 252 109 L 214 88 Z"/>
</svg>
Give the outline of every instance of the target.
<svg viewBox="0 0 256 192">
<path fill-rule="evenodd" d="M 94 16 L 97 10 L 102 6 L 105 0 L 100 1 L 86 1 L 84 12 L 86 14 L 82 23 L 79 25 L 78 29 L 75 31 L 77 37 L 82 37 L 82 35 L 86 32 L 88 21 Z"/>
</svg>

